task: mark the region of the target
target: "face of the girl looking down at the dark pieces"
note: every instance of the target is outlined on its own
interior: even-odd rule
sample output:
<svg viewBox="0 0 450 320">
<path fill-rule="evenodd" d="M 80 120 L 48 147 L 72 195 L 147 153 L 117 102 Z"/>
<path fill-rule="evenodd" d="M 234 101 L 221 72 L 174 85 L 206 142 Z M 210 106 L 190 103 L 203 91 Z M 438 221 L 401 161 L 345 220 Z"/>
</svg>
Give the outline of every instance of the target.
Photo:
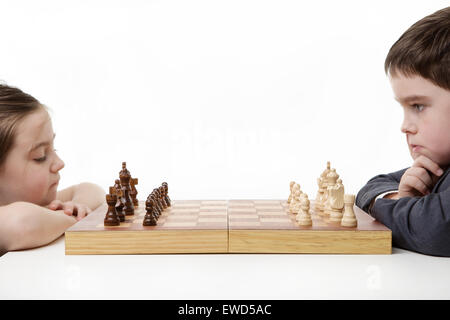
<svg viewBox="0 0 450 320">
<path fill-rule="evenodd" d="M 64 162 L 53 147 L 52 122 L 43 108 L 16 127 L 14 144 L 0 167 L 0 205 L 16 201 L 40 206 L 56 198 Z"/>
</svg>

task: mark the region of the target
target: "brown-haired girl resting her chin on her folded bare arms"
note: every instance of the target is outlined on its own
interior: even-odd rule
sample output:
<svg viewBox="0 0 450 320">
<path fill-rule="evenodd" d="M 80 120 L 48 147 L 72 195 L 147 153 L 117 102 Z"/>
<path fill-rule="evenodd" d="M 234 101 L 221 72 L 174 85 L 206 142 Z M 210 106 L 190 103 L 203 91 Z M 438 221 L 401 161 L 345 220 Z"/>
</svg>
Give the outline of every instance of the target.
<svg viewBox="0 0 450 320">
<path fill-rule="evenodd" d="M 64 162 L 54 138 L 44 105 L 0 85 L 0 255 L 52 242 L 105 201 L 92 183 L 57 191 Z"/>
</svg>

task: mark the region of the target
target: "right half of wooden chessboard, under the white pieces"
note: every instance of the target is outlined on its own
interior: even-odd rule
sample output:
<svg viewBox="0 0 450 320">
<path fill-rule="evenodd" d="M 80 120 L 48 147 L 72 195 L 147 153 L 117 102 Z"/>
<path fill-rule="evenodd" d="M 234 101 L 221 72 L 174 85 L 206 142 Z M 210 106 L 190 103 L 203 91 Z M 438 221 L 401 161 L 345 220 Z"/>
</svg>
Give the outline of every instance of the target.
<svg viewBox="0 0 450 320">
<path fill-rule="evenodd" d="M 311 208 L 314 203 L 311 202 Z M 312 226 L 299 226 L 287 201 L 231 200 L 229 252 L 390 254 L 391 231 L 354 206 L 358 226 L 341 227 L 312 209 Z"/>
</svg>

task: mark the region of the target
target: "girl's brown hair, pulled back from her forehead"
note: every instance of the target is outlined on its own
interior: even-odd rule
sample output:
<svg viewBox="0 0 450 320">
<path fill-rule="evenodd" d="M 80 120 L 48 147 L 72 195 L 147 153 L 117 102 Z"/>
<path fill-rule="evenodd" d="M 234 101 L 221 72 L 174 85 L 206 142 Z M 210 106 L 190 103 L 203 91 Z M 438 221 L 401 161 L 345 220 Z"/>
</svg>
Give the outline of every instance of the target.
<svg viewBox="0 0 450 320">
<path fill-rule="evenodd" d="M 15 128 L 27 115 L 45 108 L 22 90 L 0 84 L 0 166 L 14 144 Z"/>
</svg>

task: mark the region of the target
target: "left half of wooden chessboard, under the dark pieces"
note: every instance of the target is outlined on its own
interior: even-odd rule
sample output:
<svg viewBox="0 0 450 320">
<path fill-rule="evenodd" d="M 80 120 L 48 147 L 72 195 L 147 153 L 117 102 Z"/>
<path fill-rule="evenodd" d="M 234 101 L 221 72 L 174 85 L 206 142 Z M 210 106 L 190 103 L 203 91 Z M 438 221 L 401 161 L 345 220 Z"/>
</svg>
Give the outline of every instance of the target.
<svg viewBox="0 0 450 320">
<path fill-rule="evenodd" d="M 105 204 L 66 231 L 66 254 L 228 252 L 227 201 L 172 201 L 151 227 L 142 225 L 144 202 L 120 226 L 104 226 L 106 211 Z"/>
</svg>

